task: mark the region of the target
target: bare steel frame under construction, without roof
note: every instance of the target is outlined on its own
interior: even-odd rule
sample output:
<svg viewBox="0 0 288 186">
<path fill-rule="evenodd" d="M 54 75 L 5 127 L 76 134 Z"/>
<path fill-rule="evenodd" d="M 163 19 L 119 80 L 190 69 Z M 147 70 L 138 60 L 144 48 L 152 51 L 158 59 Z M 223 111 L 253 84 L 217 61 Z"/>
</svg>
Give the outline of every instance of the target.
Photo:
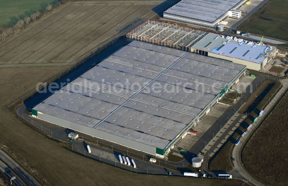
<svg viewBox="0 0 288 186">
<path fill-rule="evenodd" d="M 196 42 L 207 34 L 208 32 L 182 27 L 177 24 L 147 20 L 128 32 L 127 39 L 189 51 Z"/>
</svg>

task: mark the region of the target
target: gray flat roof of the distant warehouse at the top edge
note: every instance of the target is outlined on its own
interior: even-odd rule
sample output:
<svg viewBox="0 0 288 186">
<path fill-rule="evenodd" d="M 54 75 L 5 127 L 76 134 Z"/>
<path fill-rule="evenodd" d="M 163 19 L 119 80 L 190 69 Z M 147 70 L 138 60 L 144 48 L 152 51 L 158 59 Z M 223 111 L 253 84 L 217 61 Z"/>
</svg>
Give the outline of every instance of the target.
<svg viewBox="0 0 288 186">
<path fill-rule="evenodd" d="M 214 22 L 230 9 L 236 7 L 243 0 L 183 0 L 164 12 Z"/>
</svg>

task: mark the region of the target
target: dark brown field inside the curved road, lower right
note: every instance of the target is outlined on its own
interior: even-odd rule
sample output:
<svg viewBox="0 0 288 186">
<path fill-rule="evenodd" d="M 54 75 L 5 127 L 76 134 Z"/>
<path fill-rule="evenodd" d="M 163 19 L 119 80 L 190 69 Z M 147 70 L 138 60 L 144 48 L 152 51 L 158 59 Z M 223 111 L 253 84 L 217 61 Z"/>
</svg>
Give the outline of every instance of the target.
<svg viewBox="0 0 288 186">
<path fill-rule="evenodd" d="M 267 185 L 287 185 L 288 181 L 287 104 L 288 93 L 255 131 L 242 152 L 248 172 Z"/>
</svg>

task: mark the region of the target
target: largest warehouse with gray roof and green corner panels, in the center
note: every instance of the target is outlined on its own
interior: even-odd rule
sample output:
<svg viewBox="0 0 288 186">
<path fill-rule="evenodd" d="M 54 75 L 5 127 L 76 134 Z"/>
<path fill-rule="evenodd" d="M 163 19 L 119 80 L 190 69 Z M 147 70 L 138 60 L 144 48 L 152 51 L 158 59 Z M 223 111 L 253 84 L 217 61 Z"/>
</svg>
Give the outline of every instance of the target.
<svg viewBox="0 0 288 186">
<path fill-rule="evenodd" d="M 246 67 L 133 41 L 32 110 L 32 116 L 164 157 Z"/>
</svg>

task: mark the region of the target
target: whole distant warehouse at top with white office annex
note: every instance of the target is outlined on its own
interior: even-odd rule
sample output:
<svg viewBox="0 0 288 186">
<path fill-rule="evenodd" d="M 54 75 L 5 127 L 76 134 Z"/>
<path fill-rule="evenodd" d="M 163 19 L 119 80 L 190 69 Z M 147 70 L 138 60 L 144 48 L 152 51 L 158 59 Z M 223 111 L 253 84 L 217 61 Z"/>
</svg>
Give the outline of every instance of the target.
<svg viewBox="0 0 288 186">
<path fill-rule="evenodd" d="M 163 13 L 163 18 L 215 28 L 248 0 L 182 0 Z M 232 10 L 232 11 L 231 11 Z M 231 15 L 232 16 L 232 15 Z M 238 18 L 238 17 L 237 17 Z"/>
</svg>

